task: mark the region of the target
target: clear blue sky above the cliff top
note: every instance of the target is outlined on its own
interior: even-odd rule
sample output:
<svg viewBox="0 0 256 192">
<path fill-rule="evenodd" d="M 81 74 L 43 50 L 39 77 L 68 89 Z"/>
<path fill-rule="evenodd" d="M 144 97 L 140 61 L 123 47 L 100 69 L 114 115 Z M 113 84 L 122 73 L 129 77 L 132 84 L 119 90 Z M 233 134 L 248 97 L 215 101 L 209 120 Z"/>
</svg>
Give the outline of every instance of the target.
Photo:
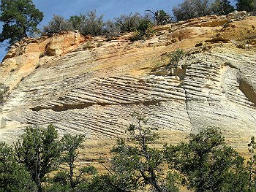
<svg viewBox="0 0 256 192">
<path fill-rule="evenodd" d="M 98 15 L 104 15 L 104 20 L 113 19 L 121 14 L 130 12 L 143 13 L 146 9 L 164 9 L 171 13 L 172 7 L 183 0 L 34 0 L 36 7 L 45 15 L 39 28 L 48 24 L 53 15 L 69 18 L 71 15 L 80 15 L 96 9 Z M 1 26 L 0 26 L 1 30 Z M 0 31 L 1 32 L 1 31 Z M 4 47 L 0 48 L 0 61 L 6 54 Z"/>
</svg>

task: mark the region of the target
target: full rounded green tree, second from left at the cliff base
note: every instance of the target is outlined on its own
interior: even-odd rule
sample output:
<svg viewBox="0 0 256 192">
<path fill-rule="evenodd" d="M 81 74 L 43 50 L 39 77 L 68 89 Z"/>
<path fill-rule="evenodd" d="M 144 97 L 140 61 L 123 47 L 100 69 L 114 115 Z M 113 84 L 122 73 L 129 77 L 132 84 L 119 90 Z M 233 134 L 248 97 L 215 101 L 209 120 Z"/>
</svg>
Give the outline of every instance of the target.
<svg viewBox="0 0 256 192">
<path fill-rule="evenodd" d="M 38 191 L 42 191 L 45 175 L 59 166 L 61 145 L 57 139 L 58 133 L 53 125 L 46 129 L 29 127 L 15 144 L 18 162 L 29 171 Z"/>
</svg>

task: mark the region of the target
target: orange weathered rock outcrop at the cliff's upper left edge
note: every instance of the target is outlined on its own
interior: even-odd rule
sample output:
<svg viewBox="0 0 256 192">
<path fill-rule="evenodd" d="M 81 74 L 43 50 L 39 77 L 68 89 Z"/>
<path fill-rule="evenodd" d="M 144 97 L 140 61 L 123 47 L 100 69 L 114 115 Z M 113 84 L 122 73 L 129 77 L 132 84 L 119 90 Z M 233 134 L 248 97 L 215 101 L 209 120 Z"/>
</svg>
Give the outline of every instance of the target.
<svg viewBox="0 0 256 192">
<path fill-rule="evenodd" d="M 86 42 L 86 39 L 90 38 L 70 32 L 54 34 L 53 37 L 24 39 L 18 42 L 10 48 L 1 64 L 1 82 L 12 91 L 12 88 L 15 88 L 21 80 L 39 66 L 47 63 L 48 58 L 45 58 L 45 55 L 64 55 Z"/>
</svg>

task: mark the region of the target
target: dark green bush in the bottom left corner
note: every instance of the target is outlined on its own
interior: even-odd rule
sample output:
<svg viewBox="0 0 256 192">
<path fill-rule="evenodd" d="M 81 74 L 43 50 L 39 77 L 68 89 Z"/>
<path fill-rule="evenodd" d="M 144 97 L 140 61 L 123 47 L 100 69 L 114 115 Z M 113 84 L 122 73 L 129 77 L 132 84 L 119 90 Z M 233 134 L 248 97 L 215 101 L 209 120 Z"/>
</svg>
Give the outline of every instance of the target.
<svg viewBox="0 0 256 192">
<path fill-rule="evenodd" d="M 12 147 L 4 142 L 0 142 L 0 191 L 36 191 L 29 172 L 15 161 Z"/>
</svg>

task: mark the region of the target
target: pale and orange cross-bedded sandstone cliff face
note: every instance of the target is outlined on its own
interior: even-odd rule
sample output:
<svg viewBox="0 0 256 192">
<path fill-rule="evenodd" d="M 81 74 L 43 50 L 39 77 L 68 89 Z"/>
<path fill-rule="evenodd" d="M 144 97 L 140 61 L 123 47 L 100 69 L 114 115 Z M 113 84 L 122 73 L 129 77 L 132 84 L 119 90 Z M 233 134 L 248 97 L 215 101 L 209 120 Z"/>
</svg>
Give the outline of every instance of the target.
<svg viewBox="0 0 256 192">
<path fill-rule="evenodd" d="M 20 42 L 0 66 L 0 140 L 49 123 L 92 139 L 123 137 L 137 111 L 162 131 L 221 128 L 246 150 L 256 134 L 255 27 L 252 16 L 209 16 L 158 26 L 138 42 L 76 33 Z M 177 49 L 186 55 L 170 66 Z"/>
</svg>

